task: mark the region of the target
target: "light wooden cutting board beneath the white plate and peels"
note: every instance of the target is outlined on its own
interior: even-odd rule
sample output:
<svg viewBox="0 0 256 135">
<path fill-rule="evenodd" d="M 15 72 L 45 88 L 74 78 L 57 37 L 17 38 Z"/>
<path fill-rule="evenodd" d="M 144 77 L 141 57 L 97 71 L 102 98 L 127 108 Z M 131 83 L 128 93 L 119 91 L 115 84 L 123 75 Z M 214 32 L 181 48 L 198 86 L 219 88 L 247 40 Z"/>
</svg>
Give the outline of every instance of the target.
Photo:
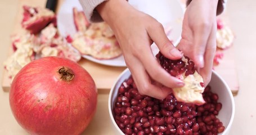
<svg viewBox="0 0 256 135">
<path fill-rule="evenodd" d="M 57 10 L 59 9 L 61 3 L 64 0 L 59 0 Z M 183 1 L 183 0 L 182 0 Z M 20 0 L 19 1 L 19 9 L 16 15 L 16 22 L 14 25 L 14 34 L 15 33 L 23 33 L 23 29 L 21 29 L 21 19 L 22 19 L 22 13 L 23 13 L 23 5 L 29 5 L 29 6 L 42 6 L 44 7 L 46 5 L 46 0 L 43 1 L 36 1 L 36 0 Z M 222 16 L 221 16 L 222 17 Z M 223 15 L 224 20 L 228 20 L 226 16 Z M 226 80 L 228 86 L 231 88 L 231 91 L 233 95 L 236 95 L 239 91 L 239 83 L 237 79 L 237 73 L 236 73 L 236 67 L 235 67 L 235 58 L 234 58 L 234 48 L 228 48 L 227 50 L 224 50 L 224 57 L 221 61 L 221 64 L 215 67 L 215 71 L 221 77 Z M 11 43 L 10 43 L 10 55 L 12 53 Z M 110 88 L 114 84 L 114 82 L 117 80 L 118 76 L 122 73 L 122 71 L 125 69 L 120 67 L 112 67 L 112 66 L 105 66 L 101 64 L 96 64 L 95 62 L 88 61 L 86 59 L 82 59 L 79 61 L 79 64 L 83 66 L 84 69 L 86 69 L 89 74 L 92 75 L 92 78 L 95 80 L 96 86 L 98 88 L 99 93 L 108 93 L 110 91 Z M 11 79 L 8 77 L 6 70 L 3 71 L 3 77 L 2 77 L 2 88 L 3 91 L 10 91 L 10 84 Z"/>
</svg>

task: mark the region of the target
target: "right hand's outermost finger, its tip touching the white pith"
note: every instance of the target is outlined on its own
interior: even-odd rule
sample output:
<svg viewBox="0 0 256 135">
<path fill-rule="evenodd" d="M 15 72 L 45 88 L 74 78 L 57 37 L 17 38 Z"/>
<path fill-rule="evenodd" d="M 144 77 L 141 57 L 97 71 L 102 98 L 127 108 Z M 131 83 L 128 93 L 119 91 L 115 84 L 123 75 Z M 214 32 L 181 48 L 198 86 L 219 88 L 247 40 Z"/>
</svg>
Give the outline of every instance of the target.
<svg viewBox="0 0 256 135">
<path fill-rule="evenodd" d="M 199 70 L 199 74 L 202 75 L 205 86 L 210 82 L 212 77 L 213 59 L 216 51 L 216 34 L 213 30 L 209 37 L 206 49 L 205 49 L 205 66 Z"/>
</svg>

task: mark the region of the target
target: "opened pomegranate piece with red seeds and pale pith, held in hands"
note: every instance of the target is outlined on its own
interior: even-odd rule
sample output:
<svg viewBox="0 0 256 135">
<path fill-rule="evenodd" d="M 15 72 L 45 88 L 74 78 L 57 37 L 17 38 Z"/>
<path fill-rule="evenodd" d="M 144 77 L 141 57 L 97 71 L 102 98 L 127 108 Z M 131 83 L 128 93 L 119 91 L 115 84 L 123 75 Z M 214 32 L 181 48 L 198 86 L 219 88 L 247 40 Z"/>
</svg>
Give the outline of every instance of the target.
<svg viewBox="0 0 256 135">
<path fill-rule="evenodd" d="M 179 60 L 170 60 L 161 52 L 156 55 L 160 65 L 173 77 L 185 82 L 182 88 L 173 88 L 173 94 L 179 102 L 191 102 L 197 105 L 205 103 L 203 78 L 195 70 L 195 63 L 188 57 L 182 56 Z"/>
</svg>

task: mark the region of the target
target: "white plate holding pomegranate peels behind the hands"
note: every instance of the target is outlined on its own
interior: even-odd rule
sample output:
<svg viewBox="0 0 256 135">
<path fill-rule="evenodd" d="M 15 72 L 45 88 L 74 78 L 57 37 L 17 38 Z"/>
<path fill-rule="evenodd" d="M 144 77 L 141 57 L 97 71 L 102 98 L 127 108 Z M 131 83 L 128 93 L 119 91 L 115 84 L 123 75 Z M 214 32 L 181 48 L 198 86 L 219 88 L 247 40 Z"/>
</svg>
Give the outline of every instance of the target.
<svg viewBox="0 0 256 135">
<path fill-rule="evenodd" d="M 162 0 L 148 1 L 148 0 L 129 0 L 133 7 L 142 12 L 145 12 L 163 24 L 164 28 L 172 28 L 168 38 L 173 40 L 176 46 L 181 39 L 182 18 L 184 8 L 178 0 Z M 66 0 L 63 2 L 60 11 L 57 15 L 57 26 L 62 36 L 74 35 L 76 33 L 73 20 L 73 7 L 77 7 L 78 11 L 82 11 L 82 6 L 78 0 Z M 158 47 L 155 44 L 151 46 L 154 55 L 158 53 Z M 109 66 L 126 66 L 124 57 L 120 56 L 111 60 L 98 60 L 91 56 L 83 55 L 85 59 Z"/>
</svg>

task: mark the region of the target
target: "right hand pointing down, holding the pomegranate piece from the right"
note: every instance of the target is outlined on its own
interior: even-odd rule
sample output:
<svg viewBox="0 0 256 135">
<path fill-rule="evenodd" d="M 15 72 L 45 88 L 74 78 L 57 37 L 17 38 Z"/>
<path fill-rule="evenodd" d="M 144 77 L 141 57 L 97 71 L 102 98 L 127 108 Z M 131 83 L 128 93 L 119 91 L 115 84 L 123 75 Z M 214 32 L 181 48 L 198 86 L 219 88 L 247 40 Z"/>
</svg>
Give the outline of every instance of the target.
<svg viewBox="0 0 256 135">
<path fill-rule="evenodd" d="M 217 0 L 192 0 L 183 19 L 182 39 L 178 45 L 190 57 L 202 75 L 205 85 L 212 75 L 216 50 Z"/>
</svg>

